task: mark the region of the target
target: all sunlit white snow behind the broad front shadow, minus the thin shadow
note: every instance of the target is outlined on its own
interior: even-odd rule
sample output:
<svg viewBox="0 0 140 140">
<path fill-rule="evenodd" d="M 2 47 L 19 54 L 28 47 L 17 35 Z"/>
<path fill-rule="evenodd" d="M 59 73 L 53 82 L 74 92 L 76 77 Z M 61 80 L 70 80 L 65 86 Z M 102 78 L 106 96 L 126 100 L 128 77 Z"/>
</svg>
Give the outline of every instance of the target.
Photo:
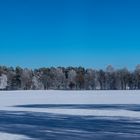
<svg viewBox="0 0 140 140">
<path fill-rule="evenodd" d="M 140 118 L 130 110 L 24 108 L 33 104 L 140 104 L 140 91 L 1 91 L 0 110 L 28 111 L 82 116 L 119 116 Z"/>
</svg>

